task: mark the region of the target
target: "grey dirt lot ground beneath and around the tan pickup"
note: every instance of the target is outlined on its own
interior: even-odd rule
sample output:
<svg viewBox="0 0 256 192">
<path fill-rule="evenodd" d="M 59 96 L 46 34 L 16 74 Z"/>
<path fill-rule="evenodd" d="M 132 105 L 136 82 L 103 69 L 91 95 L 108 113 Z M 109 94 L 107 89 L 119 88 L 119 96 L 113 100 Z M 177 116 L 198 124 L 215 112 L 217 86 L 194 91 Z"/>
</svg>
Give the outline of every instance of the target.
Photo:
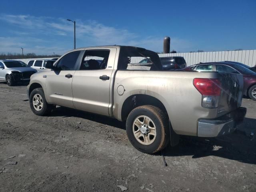
<svg viewBox="0 0 256 192">
<path fill-rule="evenodd" d="M 0 82 L 0 191 L 256 191 L 256 102 L 234 134 L 138 152 L 123 123 L 58 107 L 34 115 L 26 86 Z M 13 158 L 7 159 L 9 157 Z M 17 164 L 8 164 L 17 162 Z"/>
</svg>

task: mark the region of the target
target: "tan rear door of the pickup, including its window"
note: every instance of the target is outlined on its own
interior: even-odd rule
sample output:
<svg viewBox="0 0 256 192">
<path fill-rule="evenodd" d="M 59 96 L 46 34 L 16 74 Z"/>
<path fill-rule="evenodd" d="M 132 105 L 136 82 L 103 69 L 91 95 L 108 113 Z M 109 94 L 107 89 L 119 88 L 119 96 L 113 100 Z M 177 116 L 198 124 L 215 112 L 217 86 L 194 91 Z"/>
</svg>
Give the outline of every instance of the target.
<svg viewBox="0 0 256 192">
<path fill-rule="evenodd" d="M 73 104 L 76 109 L 109 115 L 115 56 L 116 48 L 86 50 L 72 82 Z"/>
</svg>

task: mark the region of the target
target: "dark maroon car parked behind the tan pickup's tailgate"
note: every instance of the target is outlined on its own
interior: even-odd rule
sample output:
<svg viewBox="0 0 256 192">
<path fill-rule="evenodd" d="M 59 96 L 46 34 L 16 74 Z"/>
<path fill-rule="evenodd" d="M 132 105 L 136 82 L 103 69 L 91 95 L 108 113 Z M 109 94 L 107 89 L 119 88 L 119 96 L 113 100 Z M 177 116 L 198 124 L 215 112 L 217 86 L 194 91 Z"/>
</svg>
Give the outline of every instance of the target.
<svg viewBox="0 0 256 192">
<path fill-rule="evenodd" d="M 208 62 L 200 63 L 183 69 L 185 71 L 209 72 L 217 71 L 224 73 L 242 74 L 244 77 L 244 95 L 256 101 L 256 73 L 237 64 L 236 62 Z"/>
</svg>

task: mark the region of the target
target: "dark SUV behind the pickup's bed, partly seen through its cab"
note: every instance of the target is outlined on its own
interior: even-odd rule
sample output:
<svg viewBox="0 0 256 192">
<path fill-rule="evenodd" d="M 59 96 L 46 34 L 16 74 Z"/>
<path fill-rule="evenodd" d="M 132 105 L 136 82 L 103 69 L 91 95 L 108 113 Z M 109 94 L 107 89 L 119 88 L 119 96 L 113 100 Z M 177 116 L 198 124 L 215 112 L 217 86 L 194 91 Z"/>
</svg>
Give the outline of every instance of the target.
<svg viewBox="0 0 256 192">
<path fill-rule="evenodd" d="M 182 69 L 187 66 L 184 57 L 174 56 L 174 57 L 160 57 L 164 70 L 176 70 Z M 139 63 L 152 63 L 150 59 L 141 60 Z"/>
</svg>

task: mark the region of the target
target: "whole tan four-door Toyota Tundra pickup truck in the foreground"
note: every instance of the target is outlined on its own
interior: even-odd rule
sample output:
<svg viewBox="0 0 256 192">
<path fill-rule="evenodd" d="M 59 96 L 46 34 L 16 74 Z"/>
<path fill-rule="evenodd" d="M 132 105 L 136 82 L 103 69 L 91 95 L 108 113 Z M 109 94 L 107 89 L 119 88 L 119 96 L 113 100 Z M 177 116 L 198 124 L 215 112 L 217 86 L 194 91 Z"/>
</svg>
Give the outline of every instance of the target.
<svg viewBox="0 0 256 192">
<path fill-rule="evenodd" d="M 138 57 L 151 62 L 140 66 Z M 57 105 L 125 121 L 131 144 L 148 154 L 178 144 L 179 135 L 229 134 L 246 114 L 242 75 L 164 71 L 158 54 L 144 48 L 79 48 L 46 68 L 27 87 L 34 114 Z"/>
</svg>

